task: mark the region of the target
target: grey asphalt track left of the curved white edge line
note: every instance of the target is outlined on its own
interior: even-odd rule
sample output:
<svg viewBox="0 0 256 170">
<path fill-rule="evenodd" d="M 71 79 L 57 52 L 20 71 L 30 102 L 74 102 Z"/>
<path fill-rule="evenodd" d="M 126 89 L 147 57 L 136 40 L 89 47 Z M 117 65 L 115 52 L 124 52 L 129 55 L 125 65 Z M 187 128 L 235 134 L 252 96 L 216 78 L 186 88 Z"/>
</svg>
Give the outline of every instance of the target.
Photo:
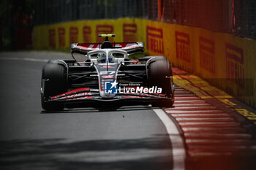
<svg viewBox="0 0 256 170">
<path fill-rule="evenodd" d="M 0 169 L 173 169 L 170 136 L 151 107 L 43 112 L 41 68 L 70 55 L 0 55 Z"/>
</svg>

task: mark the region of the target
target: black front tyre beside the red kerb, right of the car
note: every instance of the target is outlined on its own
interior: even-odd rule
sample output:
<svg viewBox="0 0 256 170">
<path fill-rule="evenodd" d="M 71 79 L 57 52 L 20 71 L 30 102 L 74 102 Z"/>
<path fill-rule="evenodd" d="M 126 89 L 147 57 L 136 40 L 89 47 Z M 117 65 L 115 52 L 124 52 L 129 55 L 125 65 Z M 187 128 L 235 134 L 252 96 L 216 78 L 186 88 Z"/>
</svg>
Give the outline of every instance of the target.
<svg viewBox="0 0 256 170">
<path fill-rule="evenodd" d="M 164 56 L 152 59 L 148 66 L 148 85 L 162 88 L 162 93 L 170 100 L 154 101 L 153 107 L 172 107 L 173 106 L 173 90 L 170 77 L 173 76 L 170 61 Z"/>
</svg>

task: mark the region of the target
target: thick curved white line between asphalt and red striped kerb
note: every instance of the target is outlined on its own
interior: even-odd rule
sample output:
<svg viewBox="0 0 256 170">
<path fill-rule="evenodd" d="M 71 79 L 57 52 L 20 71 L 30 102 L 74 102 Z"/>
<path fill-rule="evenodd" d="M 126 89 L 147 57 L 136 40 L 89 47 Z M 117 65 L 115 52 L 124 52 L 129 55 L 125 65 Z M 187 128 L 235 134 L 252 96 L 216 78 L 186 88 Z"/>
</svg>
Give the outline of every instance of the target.
<svg viewBox="0 0 256 170">
<path fill-rule="evenodd" d="M 173 149 L 173 170 L 185 169 L 186 152 L 181 138 L 181 134 L 173 121 L 162 109 L 153 109 L 162 123 L 164 123 Z"/>
</svg>

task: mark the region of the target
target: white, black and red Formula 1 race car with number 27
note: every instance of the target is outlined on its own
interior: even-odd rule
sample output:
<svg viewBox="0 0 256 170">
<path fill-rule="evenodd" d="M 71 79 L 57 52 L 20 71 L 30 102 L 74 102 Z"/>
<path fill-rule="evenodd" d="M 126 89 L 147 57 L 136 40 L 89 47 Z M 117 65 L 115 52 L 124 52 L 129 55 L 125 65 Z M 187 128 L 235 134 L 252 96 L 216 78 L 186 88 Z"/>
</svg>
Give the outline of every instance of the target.
<svg viewBox="0 0 256 170">
<path fill-rule="evenodd" d="M 70 45 L 71 60 L 50 60 L 42 67 L 41 102 L 47 111 L 75 107 L 173 105 L 174 85 L 165 56 L 143 56 L 143 42 Z"/>
</svg>

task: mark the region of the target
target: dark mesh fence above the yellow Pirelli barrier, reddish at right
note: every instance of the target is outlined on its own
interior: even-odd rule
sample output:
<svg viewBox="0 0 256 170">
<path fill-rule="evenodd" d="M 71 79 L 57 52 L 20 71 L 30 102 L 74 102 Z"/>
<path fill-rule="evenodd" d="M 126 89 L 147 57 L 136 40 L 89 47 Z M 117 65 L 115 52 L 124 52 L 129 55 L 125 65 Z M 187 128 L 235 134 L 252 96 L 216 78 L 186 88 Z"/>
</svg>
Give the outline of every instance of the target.
<svg viewBox="0 0 256 170">
<path fill-rule="evenodd" d="M 256 39 L 255 0 L 37 0 L 35 25 L 147 18 Z"/>
</svg>

